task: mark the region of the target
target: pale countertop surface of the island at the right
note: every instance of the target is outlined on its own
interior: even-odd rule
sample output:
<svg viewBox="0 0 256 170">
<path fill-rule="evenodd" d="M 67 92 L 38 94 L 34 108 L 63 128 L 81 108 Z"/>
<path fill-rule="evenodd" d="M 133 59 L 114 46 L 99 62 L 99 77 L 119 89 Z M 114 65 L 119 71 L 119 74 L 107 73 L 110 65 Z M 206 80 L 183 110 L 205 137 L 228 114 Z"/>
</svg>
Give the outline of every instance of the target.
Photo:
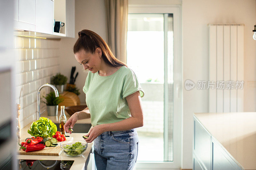
<svg viewBox="0 0 256 170">
<path fill-rule="evenodd" d="M 194 115 L 238 165 L 245 170 L 256 169 L 256 112 Z"/>
</svg>

